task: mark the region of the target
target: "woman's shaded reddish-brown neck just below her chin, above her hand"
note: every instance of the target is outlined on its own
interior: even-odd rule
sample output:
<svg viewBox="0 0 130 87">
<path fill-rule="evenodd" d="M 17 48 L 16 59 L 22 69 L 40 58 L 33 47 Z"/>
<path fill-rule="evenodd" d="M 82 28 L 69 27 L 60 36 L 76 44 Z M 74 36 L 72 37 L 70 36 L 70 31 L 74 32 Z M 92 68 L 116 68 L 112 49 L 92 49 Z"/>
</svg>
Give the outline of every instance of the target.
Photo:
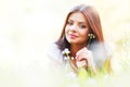
<svg viewBox="0 0 130 87">
<path fill-rule="evenodd" d="M 83 47 L 87 47 L 87 45 L 70 45 L 70 55 L 76 57 L 76 53 Z"/>
</svg>

